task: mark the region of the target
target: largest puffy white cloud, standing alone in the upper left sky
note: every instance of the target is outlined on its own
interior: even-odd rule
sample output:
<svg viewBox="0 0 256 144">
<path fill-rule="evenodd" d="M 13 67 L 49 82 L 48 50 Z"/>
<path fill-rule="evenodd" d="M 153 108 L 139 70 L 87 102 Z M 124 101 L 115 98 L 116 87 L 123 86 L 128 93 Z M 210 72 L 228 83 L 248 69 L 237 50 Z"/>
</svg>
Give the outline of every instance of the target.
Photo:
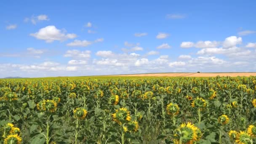
<svg viewBox="0 0 256 144">
<path fill-rule="evenodd" d="M 55 26 L 47 26 L 39 29 L 38 32 L 30 34 L 39 40 L 45 40 L 46 43 L 51 43 L 54 40 L 67 40 L 77 37 L 75 34 L 64 34 L 61 30 L 57 29 Z"/>
</svg>

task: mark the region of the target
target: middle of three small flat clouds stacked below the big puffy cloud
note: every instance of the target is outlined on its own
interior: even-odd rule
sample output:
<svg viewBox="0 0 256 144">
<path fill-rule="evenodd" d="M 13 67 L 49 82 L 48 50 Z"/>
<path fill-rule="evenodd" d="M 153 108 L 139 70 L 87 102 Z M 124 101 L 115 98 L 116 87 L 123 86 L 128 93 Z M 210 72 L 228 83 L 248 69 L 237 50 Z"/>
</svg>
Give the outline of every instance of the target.
<svg viewBox="0 0 256 144">
<path fill-rule="evenodd" d="M 72 57 L 74 59 L 77 58 L 90 58 L 91 57 L 91 51 L 78 51 L 78 50 L 68 50 L 64 57 Z"/>
</svg>

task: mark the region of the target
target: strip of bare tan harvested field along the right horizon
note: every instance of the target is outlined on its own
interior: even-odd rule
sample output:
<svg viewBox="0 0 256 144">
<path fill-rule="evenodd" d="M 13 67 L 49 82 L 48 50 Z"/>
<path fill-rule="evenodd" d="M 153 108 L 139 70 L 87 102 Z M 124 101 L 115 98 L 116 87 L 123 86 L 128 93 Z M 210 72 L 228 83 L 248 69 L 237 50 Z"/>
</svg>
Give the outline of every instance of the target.
<svg viewBox="0 0 256 144">
<path fill-rule="evenodd" d="M 256 76 L 256 72 L 236 72 L 236 73 L 152 73 L 152 74 L 132 74 L 132 75 L 111 75 L 111 76 L 131 76 L 131 77 L 237 77 L 237 76 Z"/>
</svg>

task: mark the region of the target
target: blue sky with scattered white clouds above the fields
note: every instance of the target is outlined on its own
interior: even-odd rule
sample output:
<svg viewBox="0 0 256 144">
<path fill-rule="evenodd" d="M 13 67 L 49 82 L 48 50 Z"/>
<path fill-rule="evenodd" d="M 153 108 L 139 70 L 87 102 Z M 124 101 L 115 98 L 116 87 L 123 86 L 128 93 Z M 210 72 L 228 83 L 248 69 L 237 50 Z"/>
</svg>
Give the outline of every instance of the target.
<svg viewBox="0 0 256 144">
<path fill-rule="evenodd" d="M 4 0 L 0 77 L 255 72 L 253 0 Z"/>
</svg>

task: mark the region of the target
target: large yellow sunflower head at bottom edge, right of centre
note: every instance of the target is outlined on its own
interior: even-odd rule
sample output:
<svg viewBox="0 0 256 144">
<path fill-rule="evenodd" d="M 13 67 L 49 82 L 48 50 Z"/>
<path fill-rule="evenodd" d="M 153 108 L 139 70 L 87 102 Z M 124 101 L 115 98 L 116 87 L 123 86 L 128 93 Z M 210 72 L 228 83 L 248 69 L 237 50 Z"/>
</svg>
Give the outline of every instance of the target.
<svg viewBox="0 0 256 144">
<path fill-rule="evenodd" d="M 200 129 L 195 127 L 195 125 L 189 123 L 183 123 L 179 127 L 179 135 L 182 137 L 182 142 L 187 143 L 187 142 L 192 142 L 192 141 L 197 141 L 199 139 L 197 133 L 199 132 Z"/>
</svg>

